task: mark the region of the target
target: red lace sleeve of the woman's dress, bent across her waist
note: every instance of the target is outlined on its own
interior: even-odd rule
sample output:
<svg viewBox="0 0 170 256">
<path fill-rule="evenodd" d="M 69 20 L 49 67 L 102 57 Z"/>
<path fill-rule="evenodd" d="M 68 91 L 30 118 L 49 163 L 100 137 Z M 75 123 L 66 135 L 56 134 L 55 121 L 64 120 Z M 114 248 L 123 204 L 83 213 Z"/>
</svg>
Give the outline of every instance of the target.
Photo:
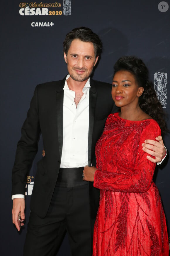
<svg viewBox="0 0 170 256">
<path fill-rule="evenodd" d="M 148 154 L 142 150 L 142 143 L 145 139 L 155 140 L 158 135 L 161 135 L 158 124 L 156 122 L 150 123 L 141 134 L 133 171 L 125 172 L 125 169 L 117 168 L 116 172 L 114 169 L 113 172 L 97 170 L 94 177 L 94 187 L 118 192 L 146 192 L 151 185 L 156 164 L 146 158 Z"/>
</svg>

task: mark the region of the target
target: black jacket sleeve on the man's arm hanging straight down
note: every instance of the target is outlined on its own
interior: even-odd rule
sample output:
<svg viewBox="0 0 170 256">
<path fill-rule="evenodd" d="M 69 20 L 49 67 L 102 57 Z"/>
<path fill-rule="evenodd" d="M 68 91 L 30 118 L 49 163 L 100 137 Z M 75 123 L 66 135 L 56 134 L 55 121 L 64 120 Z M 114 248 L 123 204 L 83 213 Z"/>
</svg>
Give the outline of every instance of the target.
<svg viewBox="0 0 170 256">
<path fill-rule="evenodd" d="M 12 195 L 25 194 L 26 176 L 38 151 L 40 122 L 38 113 L 38 88 L 35 88 L 27 118 L 21 128 L 21 139 L 17 144 L 12 170 Z"/>
</svg>

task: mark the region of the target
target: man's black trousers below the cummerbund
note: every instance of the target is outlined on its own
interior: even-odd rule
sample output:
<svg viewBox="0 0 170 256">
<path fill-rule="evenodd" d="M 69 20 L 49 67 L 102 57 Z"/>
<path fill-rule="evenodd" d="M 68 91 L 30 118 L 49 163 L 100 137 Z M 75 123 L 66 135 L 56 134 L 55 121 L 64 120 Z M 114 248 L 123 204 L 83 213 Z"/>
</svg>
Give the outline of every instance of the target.
<svg viewBox="0 0 170 256">
<path fill-rule="evenodd" d="M 90 218 L 89 184 L 55 187 L 45 218 L 30 212 L 24 256 L 55 256 L 65 231 L 72 256 L 92 255 L 94 220 Z"/>
</svg>

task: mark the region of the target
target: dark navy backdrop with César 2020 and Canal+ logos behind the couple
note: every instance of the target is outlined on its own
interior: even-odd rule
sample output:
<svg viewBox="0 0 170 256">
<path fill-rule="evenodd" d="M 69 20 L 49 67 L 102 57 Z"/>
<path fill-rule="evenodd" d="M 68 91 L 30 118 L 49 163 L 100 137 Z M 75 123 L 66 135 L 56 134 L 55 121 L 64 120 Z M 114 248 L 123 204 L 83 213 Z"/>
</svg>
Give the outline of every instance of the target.
<svg viewBox="0 0 170 256">
<path fill-rule="evenodd" d="M 51 7 L 52 4 L 55 5 Z M 149 68 L 153 82 L 155 73 L 158 76 L 159 73 L 163 73 L 164 77 L 167 75 L 163 95 L 165 111 L 169 114 L 168 5 L 170 6 L 168 0 L 62 0 L 26 3 L 7 0 L 1 3 L 1 255 L 22 255 L 36 162 L 42 157 L 43 143 L 40 139 L 39 151 L 27 180 L 26 225 L 21 232 L 14 228 L 11 215 L 11 169 L 16 144 L 21 136 L 21 126 L 36 84 L 59 80 L 67 74 L 62 52 L 67 32 L 75 27 L 87 26 L 101 37 L 104 49 L 95 68 L 94 79 L 111 83 L 113 64 L 123 55 L 142 58 Z M 170 129 L 170 121 L 168 127 Z M 169 134 L 164 138 L 164 143 L 170 149 Z M 168 158 L 156 168 L 154 179 L 161 194 L 170 230 Z M 59 255 L 70 255 L 67 236 L 57 253 Z"/>
</svg>

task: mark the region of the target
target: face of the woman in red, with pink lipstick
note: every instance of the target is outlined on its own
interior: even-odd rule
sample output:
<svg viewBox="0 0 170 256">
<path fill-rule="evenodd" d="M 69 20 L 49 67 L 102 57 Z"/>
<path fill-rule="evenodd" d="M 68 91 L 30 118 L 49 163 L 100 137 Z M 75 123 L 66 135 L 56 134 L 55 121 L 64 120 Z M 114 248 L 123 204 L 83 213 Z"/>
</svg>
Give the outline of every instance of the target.
<svg viewBox="0 0 170 256">
<path fill-rule="evenodd" d="M 143 87 L 138 87 L 134 75 L 126 70 L 115 73 L 112 82 L 112 98 L 117 107 L 137 106 Z"/>
</svg>

